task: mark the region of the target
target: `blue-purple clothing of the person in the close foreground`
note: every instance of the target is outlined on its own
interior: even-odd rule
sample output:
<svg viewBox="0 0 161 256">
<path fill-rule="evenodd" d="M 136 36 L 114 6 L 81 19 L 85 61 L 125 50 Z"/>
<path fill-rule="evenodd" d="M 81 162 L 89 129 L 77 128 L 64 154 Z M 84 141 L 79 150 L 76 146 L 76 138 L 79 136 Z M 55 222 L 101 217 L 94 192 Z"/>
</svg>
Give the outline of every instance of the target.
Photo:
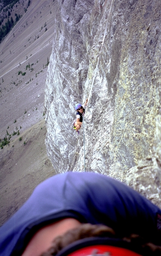
<svg viewBox="0 0 161 256">
<path fill-rule="evenodd" d="M 157 214 L 161 209 L 118 180 L 92 172 L 66 172 L 40 183 L 0 228 L 0 256 L 21 255 L 28 236 L 59 218 L 105 224 L 123 235 L 154 237 Z"/>
</svg>

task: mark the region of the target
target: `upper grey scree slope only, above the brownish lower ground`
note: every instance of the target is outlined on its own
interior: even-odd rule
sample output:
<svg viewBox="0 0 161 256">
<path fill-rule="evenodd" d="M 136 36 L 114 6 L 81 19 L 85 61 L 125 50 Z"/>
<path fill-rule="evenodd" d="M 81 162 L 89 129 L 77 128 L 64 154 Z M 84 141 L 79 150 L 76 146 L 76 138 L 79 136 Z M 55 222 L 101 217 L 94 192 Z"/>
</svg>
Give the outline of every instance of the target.
<svg viewBox="0 0 161 256">
<path fill-rule="evenodd" d="M 32 1 L 25 15 L 0 44 L 1 138 L 8 126 L 9 133 L 20 126 L 24 131 L 43 117 L 43 92 L 46 64 L 52 52 L 54 12 L 53 1 Z"/>
</svg>

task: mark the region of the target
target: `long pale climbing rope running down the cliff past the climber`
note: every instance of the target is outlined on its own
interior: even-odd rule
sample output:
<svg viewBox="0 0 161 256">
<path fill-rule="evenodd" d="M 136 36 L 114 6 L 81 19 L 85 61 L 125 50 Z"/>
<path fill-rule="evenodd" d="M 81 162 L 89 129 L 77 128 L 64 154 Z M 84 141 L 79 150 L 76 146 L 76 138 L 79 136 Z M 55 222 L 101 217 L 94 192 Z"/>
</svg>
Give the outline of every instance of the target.
<svg viewBox="0 0 161 256">
<path fill-rule="evenodd" d="M 110 6 L 110 9 L 109 9 L 109 15 L 110 15 L 110 12 L 111 12 L 111 9 L 112 9 L 112 2 L 113 2 L 113 0 L 111 1 L 111 6 Z M 98 63 L 99 63 L 99 59 L 100 59 L 100 56 L 101 56 L 101 52 L 102 52 L 102 48 L 103 48 L 103 44 L 104 44 L 104 39 L 105 39 L 105 36 L 106 36 L 109 15 L 108 15 L 107 22 L 106 22 L 106 27 L 105 27 L 105 31 L 104 31 L 104 35 L 103 35 L 103 41 L 102 41 L 102 45 L 101 45 L 101 50 L 100 50 L 99 55 L 98 55 L 98 61 L 97 61 L 97 65 L 96 65 L 96 68 L 95 68 L 95 73 L 94 73 L 94 76 L 93 76 L 91 89 L 89 91 L 88 102 L 89 102 L 89 99 L 91 97 L 92 88 L 93 88 L 93 84 L 94 84 L 96 73 L 97 73 L 97 69 L 98 69 Z M 85 113 L 87 113 L 87 108 L 88 108 L 88 104 L 86 105 L 86 112 Z M 85 131 L 84 131 L 85 127 L 84 126 L 85 126 L 85 123 L 84 123 L 84 115 L 83 115 L 84 172 L 86 172 L 86 151 L 85 151 Z"/>
</svg>

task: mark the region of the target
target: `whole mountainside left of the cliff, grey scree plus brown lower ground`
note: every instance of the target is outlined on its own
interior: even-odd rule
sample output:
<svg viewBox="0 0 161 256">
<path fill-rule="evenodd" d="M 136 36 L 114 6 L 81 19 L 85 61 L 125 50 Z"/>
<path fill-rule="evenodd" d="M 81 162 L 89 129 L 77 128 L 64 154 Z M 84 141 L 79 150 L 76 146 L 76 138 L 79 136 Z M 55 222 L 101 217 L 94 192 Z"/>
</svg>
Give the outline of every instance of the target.
<svg viewBox="0 0 161 256">
<path fill-rule="evenodd" d="M 20 131 L 0 149 L 0 225 L 38 183 L 55 175 L 46 154 L 43 116 L 54 21 L 53 0 L 31 0 L 27 12 L 0 44 L 0 138 L 6 130 L 9 134 Z M 18 71 L 26 72 L 25 76 Z"/>
</svg>

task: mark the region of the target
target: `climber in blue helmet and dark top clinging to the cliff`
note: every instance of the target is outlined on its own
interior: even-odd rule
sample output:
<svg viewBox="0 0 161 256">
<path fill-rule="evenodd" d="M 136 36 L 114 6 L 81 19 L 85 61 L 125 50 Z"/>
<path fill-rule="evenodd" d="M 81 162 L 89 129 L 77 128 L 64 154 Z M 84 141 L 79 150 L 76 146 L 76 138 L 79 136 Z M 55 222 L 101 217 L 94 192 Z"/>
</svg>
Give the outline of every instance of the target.
<svg viewBox="0 0 161 256">
<path fill-rule="evenodd" d="M 82 122 L 83 122 L 83 117 L 82 117 L 82 114 L 84 113 L 85 111 L 85 106 L 88 102 L 88 99 L 86 99 L 86 102 L 84 103 L 84 105 L 82 106 L 80 103 L 77 103 L 75 105 L 75 110 L 77 111 L 77 114 L 76 114 L 76 121 L 74 123 L 74 126 L 76 128 L 76 132 L 79 134 L 79 129 L 82 125 Z"/>
</svg>

